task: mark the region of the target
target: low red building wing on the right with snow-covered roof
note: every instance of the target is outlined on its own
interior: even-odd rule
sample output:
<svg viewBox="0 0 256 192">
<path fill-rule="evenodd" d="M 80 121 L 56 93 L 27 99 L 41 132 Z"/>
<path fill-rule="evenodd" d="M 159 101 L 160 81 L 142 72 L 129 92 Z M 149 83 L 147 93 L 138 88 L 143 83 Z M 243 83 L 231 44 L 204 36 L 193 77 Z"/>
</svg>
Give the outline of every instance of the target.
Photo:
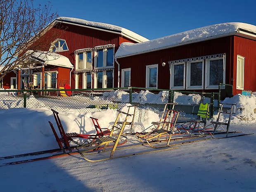
<svg viewBox="0 0 256 192">
<path fill-rule="evenodd" d="M 233 94 L 256 91 L 256 26 L 217 24 L 143 43 L 122 43 L 115 55 L 121 86 Z"/>
</svg>

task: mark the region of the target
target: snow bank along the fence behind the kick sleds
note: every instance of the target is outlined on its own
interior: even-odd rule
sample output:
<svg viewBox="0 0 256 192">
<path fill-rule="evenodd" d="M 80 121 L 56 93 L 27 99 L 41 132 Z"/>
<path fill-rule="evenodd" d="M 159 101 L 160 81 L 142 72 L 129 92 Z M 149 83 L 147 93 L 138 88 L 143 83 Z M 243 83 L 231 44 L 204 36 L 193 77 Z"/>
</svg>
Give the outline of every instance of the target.
<svg viewBox="0 0 256 192">
<path fill-rule="evenodd" d="M 127 112 L 130 104 L 126 104 L 121 110 Z M 95 128 L 90 116 L 99 119 L 102 128 L 111 128 L 116 120 L 117 111 L 107 109 L 93 113 L 80 113 L 76 110 L 59 112 L 59 118 L 66 133 L 95 134 Z M 130 114 L 133 110 L 129 111 Z M 137 113 L 140 111 L 137 109 Z M 123 121 L 125 115 L 121 115 Z M 128 118 L 131 121 L 132 117 Z M 52 133 L 48 121 L 51 121 L 58 133 L 52 111 L 48 108 L 38 109 L 9 109 L 0 110 L 1 133 L 0 151 L 1 156 L 38 152 L 48 149 L 58 148 L 55 137 Z M 146 111 L 145 121 L 138 122 L 135 119 L 133 132 L 141 132 L 151 125 L 152 121 L 158 121 L 158 114 L 153 111 Z M 130 128 L 125 128 L 125 133 L 130 132 Z M 59 134 L 59 133 L 58 133 Z M 60 137 L 60 135 L 59 135 Z M 84 142 L 84 140 L 79 140 Z"/>
</svg>

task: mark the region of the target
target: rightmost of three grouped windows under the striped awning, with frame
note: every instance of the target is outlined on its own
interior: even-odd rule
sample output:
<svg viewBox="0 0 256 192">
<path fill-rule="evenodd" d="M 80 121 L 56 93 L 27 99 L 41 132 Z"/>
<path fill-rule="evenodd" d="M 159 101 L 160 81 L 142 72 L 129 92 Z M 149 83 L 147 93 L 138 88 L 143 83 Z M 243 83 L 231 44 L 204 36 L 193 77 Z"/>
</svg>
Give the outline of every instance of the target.
<svg viewBox="0 0 256 192">
<path fill-rule="evenodd" d="M 225 83 L 225 57 L 206 59 L 205 88 L 218 89 L 219 83 Z"/>
</svg>

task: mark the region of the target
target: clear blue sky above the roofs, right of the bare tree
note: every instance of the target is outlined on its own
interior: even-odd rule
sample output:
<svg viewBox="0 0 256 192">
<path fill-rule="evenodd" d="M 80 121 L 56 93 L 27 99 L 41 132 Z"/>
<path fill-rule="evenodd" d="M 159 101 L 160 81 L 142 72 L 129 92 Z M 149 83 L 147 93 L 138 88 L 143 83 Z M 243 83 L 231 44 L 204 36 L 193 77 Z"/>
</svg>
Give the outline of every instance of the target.
<svg viewBox="0 0 256 192">
<path fill-rule="evenodd" d="M 156 39 L 225 22 L 256 25 L 256 0 L 50 0 L 59 17 L 127 28 Z M 34 0 L 34 5 L 47 1 Z"/>
</svg>

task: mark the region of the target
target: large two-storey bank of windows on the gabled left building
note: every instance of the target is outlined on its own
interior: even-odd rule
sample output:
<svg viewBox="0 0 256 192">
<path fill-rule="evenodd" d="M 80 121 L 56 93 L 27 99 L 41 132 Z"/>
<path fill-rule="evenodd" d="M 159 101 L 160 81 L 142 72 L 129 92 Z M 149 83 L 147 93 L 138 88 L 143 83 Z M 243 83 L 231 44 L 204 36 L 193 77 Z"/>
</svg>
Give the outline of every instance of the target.
<svg viewBox="0 0 256 192">
<path fill-rule="evenodd" d="M 94 58 L 92 51 L 94 51 Z M 113 88 L 114 45 L 80 49 L 76 50 L 75 53 L 76 89 Z M 92 61 L 94 62 L 93 66 Z M 92 74 L 94 82 L 92 82 Z"/>
</svg>

